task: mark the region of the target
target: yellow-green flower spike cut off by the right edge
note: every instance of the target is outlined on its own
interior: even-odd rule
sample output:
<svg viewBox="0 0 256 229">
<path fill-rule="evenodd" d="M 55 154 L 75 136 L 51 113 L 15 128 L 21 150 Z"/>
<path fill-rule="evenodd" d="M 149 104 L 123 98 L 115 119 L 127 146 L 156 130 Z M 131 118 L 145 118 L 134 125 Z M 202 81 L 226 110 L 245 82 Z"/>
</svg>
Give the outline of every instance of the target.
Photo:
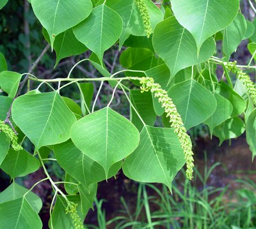
<svg viewBox="0 0 256 229">
<path fill-rule="evenodd" d="M 227 64 L 228 70 L 232 71 L 232 73 L 236 73 L 237 78 L 243 83 L 246 91 L 252 98 L 253 103 L 256 105 L 256 88 L 255 84 L 252 82 L 250 76 L 244 73 L 240 68 L 237 68 L 236 61 L 229 62 Z"/>
</svg>

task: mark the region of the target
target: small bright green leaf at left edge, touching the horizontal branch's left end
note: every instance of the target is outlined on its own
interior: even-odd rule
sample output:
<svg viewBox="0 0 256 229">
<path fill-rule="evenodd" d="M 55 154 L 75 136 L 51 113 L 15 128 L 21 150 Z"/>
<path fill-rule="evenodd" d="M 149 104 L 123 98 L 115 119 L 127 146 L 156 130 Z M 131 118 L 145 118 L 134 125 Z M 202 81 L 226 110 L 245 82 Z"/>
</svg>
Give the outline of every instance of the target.
<svg viewBox="0 0 256 229">
<path fill-rule="evenodd" d="M 14 71 L 2 71 L 0 73 L 0 87 L 8 94 L 10 98 L 14 98 L 20 83 L 21 75 Z"/>
</svg>

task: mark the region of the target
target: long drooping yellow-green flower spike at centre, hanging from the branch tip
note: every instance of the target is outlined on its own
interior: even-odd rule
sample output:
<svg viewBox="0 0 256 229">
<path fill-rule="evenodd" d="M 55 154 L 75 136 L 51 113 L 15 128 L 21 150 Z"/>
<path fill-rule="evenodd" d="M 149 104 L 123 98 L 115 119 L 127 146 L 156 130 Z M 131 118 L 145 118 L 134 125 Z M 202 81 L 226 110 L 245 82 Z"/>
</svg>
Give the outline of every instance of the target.
<svg viewBox="0 0 256 229">
<path fill-rule="evenodd" d="M 193 167 L 195 166 L 193 163 L 192 144 L 175 104 L 172 99 L 168 97 L 167 92 L 161 88 L 161 85 L 154 82 L 153 78 L 142 77 L 140 84 L 141 92 L 152 92 L 164 108 L 166 117 L 170 117 L 171 127 L 174 129 L 175 133 L 177 133 L 179 142 L 184 151 L 187 166 L 186 176 L 191 180 L 193 178 Z"/>
</svg>

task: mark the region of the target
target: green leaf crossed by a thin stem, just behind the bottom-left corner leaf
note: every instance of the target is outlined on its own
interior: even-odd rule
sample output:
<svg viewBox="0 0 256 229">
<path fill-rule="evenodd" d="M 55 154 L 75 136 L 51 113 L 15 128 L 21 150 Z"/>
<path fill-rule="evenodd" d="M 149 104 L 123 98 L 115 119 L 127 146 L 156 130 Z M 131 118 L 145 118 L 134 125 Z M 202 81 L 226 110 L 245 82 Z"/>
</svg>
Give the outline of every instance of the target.
<svg viewBox="0 0 256 229">
<path fill-rule="evenodd" d="M 22 196 L 24 196 L 29 190 L 24 188 L 23 186 L 20 186 L 19 184 L 12 182 L 8 188 L 4 189 L 0 193 L 0 203 L 8 202 L 10 200 L 16 200 Z M 42 209 L 42 200 L 40 197 L 35 195 L 32 191 L 29 191 L 28 194 L 26 194 L 26 200 L 28 200 L 28 203 L 33 207 L 36 213 L 39 213 Z"/>
</svg>

